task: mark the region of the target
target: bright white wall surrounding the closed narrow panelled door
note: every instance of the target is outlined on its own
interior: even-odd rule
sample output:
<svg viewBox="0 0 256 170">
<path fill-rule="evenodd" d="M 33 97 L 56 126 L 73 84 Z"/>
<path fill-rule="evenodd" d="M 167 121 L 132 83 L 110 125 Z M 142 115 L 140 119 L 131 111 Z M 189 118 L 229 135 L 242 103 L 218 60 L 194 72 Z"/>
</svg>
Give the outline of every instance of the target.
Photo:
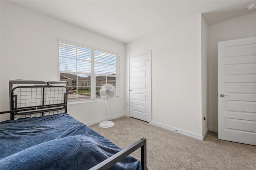
<svg viewBox="0 0 256 170">
<path fill-rule="evenodd" d="M 126 77 L 128 57 L 147 50 L 152 50 L 152 123 L 202 136 L 201 15 L 126 44 Z"/>
</svg>

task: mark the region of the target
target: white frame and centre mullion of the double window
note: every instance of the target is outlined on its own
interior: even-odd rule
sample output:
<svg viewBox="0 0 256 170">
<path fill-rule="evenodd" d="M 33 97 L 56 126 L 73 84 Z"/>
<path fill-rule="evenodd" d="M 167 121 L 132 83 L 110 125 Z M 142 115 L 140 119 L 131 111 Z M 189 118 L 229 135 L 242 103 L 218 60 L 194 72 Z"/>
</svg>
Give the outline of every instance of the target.
<svg viewBox="0 0 256 170">
<path fill-rule="evenodd" d="M 82 48 L 86 48 L 86 49 L 90 49 L 91 50 L 91 64 L 90 64 L 90 67 L 91 67 L 91 71 L 90 73 L 88 72 L 78 72 L 77 70 L 74 72 L 74 71 L 61 71 L 60 70 L 60 43 L 66 43 L 66 44 L 69 44 L 69 45 L 74 45 L 76 47 L 82 47 Z M 63 39 L 60 39 L 58 38 L 58 72 L 59 72 L 59 80 L 60 80 L 60 74 L 61 73 L 70 73 L 70 74 L 75 74 L 76 77 L 78 77 L 78 75 L 88 75 L 90 76 L 90 86 L 86 86 L 86 87 L 90 87 L 91 89 L 91 93 L 90 93 L 90 99 L 79 99 L 78 98 L 78 95 L 76 95 L 76 99 L 74 100 L 68 100 L 68 103 L 85 103 L 85 102 L 90 102 L 90 101 L 98 101 L 98 100 L 103 100 L 101 97 L 97 97 L 96 95 L 96 88 L 98 88 L 98 86 L 96 86 L 96 76 L 105 76 L 105 77 L 115 77 L 116 79 L 116 95 L 114 98 L 119 98 L 119 76 L 120 76 L 120 55 L 118 55 L 117 53 L 114 53 L 114 52 L 110 52 L 108 50 L 105 50 L 105 49 L 98 49 L 96 47 L 90 47 L 88 45 L 84 45 L 84 44 L 80 44 L 80 43 L 76 43 L 76 42 L 71 42 L 71 41 L 68 41 L 68 40 L 63 40 Z M 115 60 L 115 66 L 116 66 L 116 74 L 102 74 L 102 73 L 95 73 L 95 70 L 94 70 L 94 64 L 95 64 L 95 59 L 94 59 L 94 51 L 100 51 L 102 53 L 106 53 L 106 54 L 109 54 L 109 55 L 115 55 L 116 56 L 116 60 Z M 77 67 L 76 67 L 77 68 Z M 61 81 L 61 80 L 60 80 Z M 107 81 L 107 80 L 106 80 Z M 87 82 L 88 83 L 88 82 Z M 73 84 L 73 83 L 72 83 Z M 76 86 L 72 86 L 73 88 L 83 88 L 84 86 L 82 86 L 82 82 L 81 82 L 81 86 L 78 86 L 78 78 L 76 79 Z"/>
</svg>

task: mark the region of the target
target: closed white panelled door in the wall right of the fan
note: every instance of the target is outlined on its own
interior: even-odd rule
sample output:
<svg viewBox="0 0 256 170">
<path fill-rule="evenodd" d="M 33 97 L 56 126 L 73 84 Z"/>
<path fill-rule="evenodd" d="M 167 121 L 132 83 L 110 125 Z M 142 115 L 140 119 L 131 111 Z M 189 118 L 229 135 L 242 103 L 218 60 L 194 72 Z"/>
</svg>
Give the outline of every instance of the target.
<svg viewBox="0 0 256 170">
<path fill-rule="evenodd" d="M 130 117 L 151 121 L 151 51 L 129 57 Z"/>
</svg>

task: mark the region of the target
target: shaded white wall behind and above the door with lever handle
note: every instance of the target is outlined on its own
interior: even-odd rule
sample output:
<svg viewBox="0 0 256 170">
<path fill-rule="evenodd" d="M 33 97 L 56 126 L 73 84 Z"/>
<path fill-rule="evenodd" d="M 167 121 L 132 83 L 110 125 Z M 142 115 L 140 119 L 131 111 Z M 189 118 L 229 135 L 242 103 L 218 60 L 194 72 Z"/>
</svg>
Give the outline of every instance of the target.
<svg viewBox="0 0 256 170">
<path fill-rule="evenodd" d="M 256 36 L 256 12 L 208 28 L 209 128 L 218 131 L 218 42 Z"/>
</svg>

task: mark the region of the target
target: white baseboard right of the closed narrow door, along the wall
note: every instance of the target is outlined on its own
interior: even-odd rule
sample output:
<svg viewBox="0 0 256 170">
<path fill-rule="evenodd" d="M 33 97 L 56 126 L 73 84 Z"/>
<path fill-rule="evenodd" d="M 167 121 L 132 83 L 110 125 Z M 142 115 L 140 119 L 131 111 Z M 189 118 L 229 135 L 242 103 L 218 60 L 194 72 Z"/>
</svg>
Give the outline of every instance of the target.
<svg viewBox="0 0 256 170">
<path fill-rule="evenodd" d="M 186 136 L 190 136 L 192 138 L 196 138 L 196 139 L 199 139 L 199 140 L 204 140 L 204 137 L 205 137 L 205 136 L 200 136 L 198 134 L 194 134 L 194 133 L 191 133 L 191 132 L 187 132 L 185 130 L 180 130 L 180 129 L 177 129 L 177 128 L 174 128 L 174 127 L 163 125 L 161 123 L 156 123 L 156 122 L 153 122 L 153 121 L 151 121 L 150 124 L 155 125 L 157 127 L 165 128 L 167 130 L 172 130 L 174 132 L 177 132 L 177 133 L 180 133 L 180 134 L 184 134 Z M 206 132 L 208 132 L 208 131 L 206 131 Z M 205 132 L 205 135 L 207 134 L 206 132 Z"/>
</svg>

